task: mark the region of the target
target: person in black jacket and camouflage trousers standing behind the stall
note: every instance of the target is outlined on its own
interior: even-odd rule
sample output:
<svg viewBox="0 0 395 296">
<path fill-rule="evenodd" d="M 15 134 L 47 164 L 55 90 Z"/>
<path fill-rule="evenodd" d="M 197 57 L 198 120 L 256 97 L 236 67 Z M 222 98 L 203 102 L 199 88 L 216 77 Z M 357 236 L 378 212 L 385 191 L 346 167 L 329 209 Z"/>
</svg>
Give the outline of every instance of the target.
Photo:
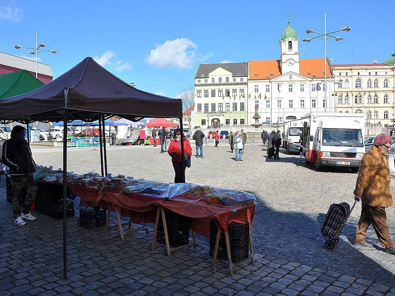
<svg viewBox="0 0 395 296">
<path fill-rule="evenodd" d="M 25 141 L 25 128 L 16 125 L 11 131 L 11 139 L 5 141 L 1 153 L 1 159 L 8 167 L 8 175 L 10 176 L 12 195 L 12 210 L 14 213 L 15 224 L 25 225 L 26 220 L 36 220 L 30 214 L 30 206 L 37 195 L 37 185 L 34 180 L 33 173 L 36 171 L 36 163 L 32 157 L 27 142 Z M 19 206 L 19 197 L 23 188 L 26 188 L 25 204 L 22 213 Z"/>
</svg>

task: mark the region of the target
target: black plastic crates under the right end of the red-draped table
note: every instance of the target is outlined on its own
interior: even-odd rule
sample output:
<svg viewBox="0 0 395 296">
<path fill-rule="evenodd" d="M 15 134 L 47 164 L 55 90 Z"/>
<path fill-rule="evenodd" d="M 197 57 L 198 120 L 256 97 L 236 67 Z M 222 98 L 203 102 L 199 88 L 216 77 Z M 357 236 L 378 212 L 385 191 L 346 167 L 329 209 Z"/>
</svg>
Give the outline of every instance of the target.
<svg viewBox="0 0 395 296">
<path fill-rule="evenodd" d="M 210 223 L 210 256 L 214 256 L 215 239 L 218 230 L 218 220 Z M 229 242 L 231 247 L 232 262 L 236 263 L 248 258 L 249 255 L 249 223 L 230 222 L 228 224 Z M 222 232 L 219 240 L 218 255 L 220 260 L 228 260 L 226 251 L 225 234 Z"/>
</svg>

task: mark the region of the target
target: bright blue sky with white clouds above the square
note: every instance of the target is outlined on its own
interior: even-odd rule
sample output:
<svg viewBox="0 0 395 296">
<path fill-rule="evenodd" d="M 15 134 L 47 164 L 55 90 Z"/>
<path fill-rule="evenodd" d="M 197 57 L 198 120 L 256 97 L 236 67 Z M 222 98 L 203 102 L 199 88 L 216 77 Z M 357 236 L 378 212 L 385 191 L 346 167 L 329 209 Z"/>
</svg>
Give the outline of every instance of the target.
<svg viewBox="0 0 395 296">
<path fill-rule="evenodd" d="M 325 3 L 326 2 L 326 3 Z M 328 40 L 333 64 L 379 63 L 395 53 L 394 1 L 22 1 L 0 0 L 0 51 L 29 56 L 36 31 L 40 60 L 54 77 L 87 56 L 137 88 L 176 97 L 193 85 L 199 63 L 277 59 L 288 12 L 300 40 L 307 28 L 351 26 Z M 324 55 L 323 40 L 300 41 L 301 58 Z M 186 78 L 186 79 L 184 79 Z M 175 81 L 178 80 L 178 81 Z M 174 82 L 171 82 L 174 81 Z M 170 83 L 168 83 L 170 82 Z"/>
</svg>

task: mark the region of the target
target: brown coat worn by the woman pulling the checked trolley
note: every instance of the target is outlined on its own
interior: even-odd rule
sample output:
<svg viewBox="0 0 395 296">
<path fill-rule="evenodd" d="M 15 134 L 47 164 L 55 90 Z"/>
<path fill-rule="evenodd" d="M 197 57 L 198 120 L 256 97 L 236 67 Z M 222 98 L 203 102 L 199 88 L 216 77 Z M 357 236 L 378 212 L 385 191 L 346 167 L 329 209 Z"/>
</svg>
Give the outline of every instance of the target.
<svg viewBox="0 0 395 296">
<path fill-rule="evenodd" d="M 372 146 L 362 158 L 354 194 L 360 196 L 365 205 L 389 207 L 393 205 L 390 182 L 387 158 L 379 148 Z"/>
</svg>

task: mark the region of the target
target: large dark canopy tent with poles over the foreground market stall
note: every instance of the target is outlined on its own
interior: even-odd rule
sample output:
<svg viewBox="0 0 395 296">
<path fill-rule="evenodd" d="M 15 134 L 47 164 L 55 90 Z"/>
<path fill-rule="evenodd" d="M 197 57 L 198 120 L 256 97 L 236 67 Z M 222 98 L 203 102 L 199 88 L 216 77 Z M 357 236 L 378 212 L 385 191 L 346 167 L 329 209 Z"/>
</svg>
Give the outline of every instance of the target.
<svg viewBox="0 0 395 296">
<path fill-rule="evenodd" d="M 63 120 L 65 131 L 67 131 L 67 122 L 75 119 L 87 122 L 99 120 L 99 127 L 103 125 L 104 128 L 104 120 L 114 115 L 132 121 L 144 117 L 179 118 L 180 127 L 183 126 L 181 99 L 171 99 L 136 89 L 105 70 L 91 57 L 85 58 L 74 68 L 39 89 L 0 101 L 0 123 L 17 121 L 29 124 L 34 121 Z M 183 129 L 180 130 L 181 142 L 183 142 Z M 103 175 L 103 156 L 107 174 L 106 146 L 104 153 L 102 145 L 100 149 Z M 183 143 L 181 150 L 184 154 Z M 185 182 L 185 174 L 183 180 Z M 67 278 L 66 195 L 67 141 L 63 141 L 63 277 L 65 279 Z"/>
</svg>

